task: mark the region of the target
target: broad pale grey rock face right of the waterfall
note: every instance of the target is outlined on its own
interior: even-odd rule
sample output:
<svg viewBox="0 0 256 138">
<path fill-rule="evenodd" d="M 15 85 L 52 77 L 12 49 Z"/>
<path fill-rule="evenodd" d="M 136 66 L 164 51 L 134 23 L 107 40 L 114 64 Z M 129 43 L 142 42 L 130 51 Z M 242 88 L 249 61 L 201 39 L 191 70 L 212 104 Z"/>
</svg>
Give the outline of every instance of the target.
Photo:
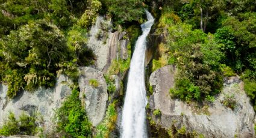
<svg viewBox="0 0 256 138">
<path fill-rule="evenodd" d="M 198 109 L 204 110 L 199 113 L 192 105 L 170 98 L 174 72 L 174 67 L 166 66 L 150 76 L 154 94 L 149 98 L 149 110 L 157 125 L 166 130 L 184 126 L 187 132 L 196 131 L 205 137 L 254 137 L 255 113 L 239 77 L 226 79 L 223 92 L 208 107 Z M 237 103 L 234 110 L 221 103 L 226 94 L 234 94 Z M 161 111 L 161 116 L 152 114 L 156 109 Z"/>
</svg>

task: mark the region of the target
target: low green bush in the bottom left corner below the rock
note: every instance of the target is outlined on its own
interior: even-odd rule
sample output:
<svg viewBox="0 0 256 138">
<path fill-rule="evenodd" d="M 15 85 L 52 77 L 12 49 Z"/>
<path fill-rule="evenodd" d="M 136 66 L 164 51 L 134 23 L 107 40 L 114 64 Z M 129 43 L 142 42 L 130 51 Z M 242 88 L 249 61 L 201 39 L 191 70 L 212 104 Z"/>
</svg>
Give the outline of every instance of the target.
<svg viewBox="0 0 256 138">
<path fill-rule="evenodd" d="M 4 122 L 4 126 L 0 129 L 0 135 L 10 136 L 15 134 L 24 134 L 33 136 L 37 133 L 36 116 L 28 116 L 24 113 L 16 120 L 14 114 L 10 112 L 8 120 Z"/>
</svg>

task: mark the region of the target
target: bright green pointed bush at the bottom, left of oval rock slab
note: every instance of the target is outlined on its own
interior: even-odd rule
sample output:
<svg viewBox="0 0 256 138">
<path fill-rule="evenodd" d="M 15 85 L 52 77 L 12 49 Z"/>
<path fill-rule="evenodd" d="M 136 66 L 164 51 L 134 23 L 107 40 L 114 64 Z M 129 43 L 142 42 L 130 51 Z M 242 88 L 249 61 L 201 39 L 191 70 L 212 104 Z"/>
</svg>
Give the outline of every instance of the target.
<svg viewBox="0 0 256 138">
<path fill-rule="evenodd" d="M 92 135 L 92 124 L 81 104 L 79 91 L 73 89 L 61 107 L 56 110 L 55 123 L 61 137 L 89 137 Z"/>
</svg>

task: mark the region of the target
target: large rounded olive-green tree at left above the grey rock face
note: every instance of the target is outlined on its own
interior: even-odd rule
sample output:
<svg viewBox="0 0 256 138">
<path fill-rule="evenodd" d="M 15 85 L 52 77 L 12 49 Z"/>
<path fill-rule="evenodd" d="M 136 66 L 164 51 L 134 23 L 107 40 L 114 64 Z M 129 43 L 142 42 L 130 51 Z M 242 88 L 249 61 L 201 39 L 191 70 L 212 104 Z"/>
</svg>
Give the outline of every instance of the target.
<svg viewBox="0 0 256 138">
<path fill-rule="evenodd" d="M 27 82 L 26 89 L 54 86 L 55 65 L 68 60 L 64 35 L 46 20 L 28 23 L 3 38 L 4 64 L 8 64 L 5 80 L 8 96 L 13 98 Z"/>
</svg>

